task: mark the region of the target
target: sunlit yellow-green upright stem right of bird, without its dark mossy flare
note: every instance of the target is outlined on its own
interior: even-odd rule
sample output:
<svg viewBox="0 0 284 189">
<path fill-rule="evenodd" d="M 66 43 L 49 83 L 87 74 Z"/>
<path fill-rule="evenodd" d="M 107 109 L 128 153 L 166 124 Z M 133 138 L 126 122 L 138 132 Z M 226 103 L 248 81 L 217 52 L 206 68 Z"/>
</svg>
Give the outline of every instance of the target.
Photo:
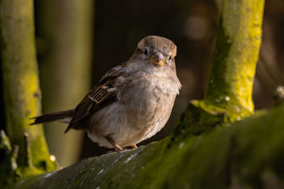
<svg viewBox="0 0 284 189">
<path fill-rule="evenodd" d="M 261 45 L 264 1 L 222 1 L 204 103 L 223 108 L 232 121 L 253 113 L 253 78 Z"/>
</svg>

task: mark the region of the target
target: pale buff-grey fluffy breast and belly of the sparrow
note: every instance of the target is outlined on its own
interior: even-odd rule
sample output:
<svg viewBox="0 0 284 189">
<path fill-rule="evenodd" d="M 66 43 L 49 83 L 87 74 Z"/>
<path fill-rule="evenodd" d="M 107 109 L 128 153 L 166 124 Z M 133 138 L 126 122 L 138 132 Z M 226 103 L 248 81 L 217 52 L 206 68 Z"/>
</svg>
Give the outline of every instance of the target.
<svg viewBox="0 0 284 189">
<path fill-rule="evenodd" d="M 160 131 L 170 117 L 177 86 L 157 77 L 133 77 L 120 88 L 119 100 L 92 116 L 89 136 L 98 142 L 99 136 L 110 136 L 121 147 L 147 139 Z M 107 146 L 105 139 L 99 143 Z"/>
</svg>

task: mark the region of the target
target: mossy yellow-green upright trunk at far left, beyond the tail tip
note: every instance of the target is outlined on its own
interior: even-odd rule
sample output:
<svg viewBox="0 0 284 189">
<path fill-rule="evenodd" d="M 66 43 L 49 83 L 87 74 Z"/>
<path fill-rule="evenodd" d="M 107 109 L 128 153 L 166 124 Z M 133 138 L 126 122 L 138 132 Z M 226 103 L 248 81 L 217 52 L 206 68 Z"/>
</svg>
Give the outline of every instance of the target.
<svg viewBox="0 0 284 189">
<path fill-rule="evenodd" d="M 0 30 L 5 128 L 12 147 L 18 145 L 18 168 L 27 175 L 54 170 L 43 127 L 29 125 L 30 118 L 40 115 L 33 1 L 1 0 Z"/>
</svg>

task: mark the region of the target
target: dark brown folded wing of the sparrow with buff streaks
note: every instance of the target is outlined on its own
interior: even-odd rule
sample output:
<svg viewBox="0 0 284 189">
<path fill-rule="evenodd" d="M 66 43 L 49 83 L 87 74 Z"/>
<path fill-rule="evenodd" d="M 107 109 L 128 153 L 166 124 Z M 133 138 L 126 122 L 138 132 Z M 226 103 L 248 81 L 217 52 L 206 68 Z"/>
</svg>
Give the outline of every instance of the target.
<svg viewBox="0 0 284 189">
<path fill-rule="evenodd" d="M 89 115 L 117 101 L 119 98 L 119 88 L 116 86 L 118 83 L 121 86 L 121 77 L 124 77 L 124 75 L 122 65 L 114 67 L 104 74 L 99 84 L 94 86 L 92 91 L 77 105 L 75 114 L 65 132 L 70 129 L 79 130 L 86 128 L 86 121 Z"/>
</svg>

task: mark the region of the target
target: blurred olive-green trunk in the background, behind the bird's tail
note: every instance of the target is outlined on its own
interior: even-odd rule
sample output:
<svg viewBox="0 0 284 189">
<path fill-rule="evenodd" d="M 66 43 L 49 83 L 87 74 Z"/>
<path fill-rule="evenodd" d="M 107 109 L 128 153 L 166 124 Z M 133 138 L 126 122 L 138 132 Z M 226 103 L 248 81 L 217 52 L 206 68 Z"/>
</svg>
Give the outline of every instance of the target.
<svg viewBox="0 0 284 189">
<path fill-rule="evenodd" d="M 75 108 L 91 87 L 93 0 L 38 2 L 38 35 L 45 44 L 40 58 L 43 111 Z M 44 48 L 44 47 L 42 47 Z M 82 132 L 64 134 L 66 124 L 45 124 L 50 151 L 60 166 L 79 159 Z"/>
</svg>

